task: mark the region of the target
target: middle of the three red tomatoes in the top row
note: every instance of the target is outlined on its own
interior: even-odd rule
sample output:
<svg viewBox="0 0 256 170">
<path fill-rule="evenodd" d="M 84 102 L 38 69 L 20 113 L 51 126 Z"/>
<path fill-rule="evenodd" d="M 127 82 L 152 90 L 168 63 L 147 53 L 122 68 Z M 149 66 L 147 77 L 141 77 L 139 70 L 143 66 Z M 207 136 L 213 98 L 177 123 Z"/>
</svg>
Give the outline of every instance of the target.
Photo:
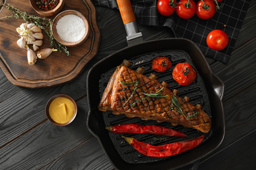
<svg viewBox="0 0 256 170">
<path fill-rule="evenodd" d="M 196 13 L 196 3 L 193 0 L 181 0 L 179 1 L 176 13 L 183 19 L 189 19 Z"/>
</svg>

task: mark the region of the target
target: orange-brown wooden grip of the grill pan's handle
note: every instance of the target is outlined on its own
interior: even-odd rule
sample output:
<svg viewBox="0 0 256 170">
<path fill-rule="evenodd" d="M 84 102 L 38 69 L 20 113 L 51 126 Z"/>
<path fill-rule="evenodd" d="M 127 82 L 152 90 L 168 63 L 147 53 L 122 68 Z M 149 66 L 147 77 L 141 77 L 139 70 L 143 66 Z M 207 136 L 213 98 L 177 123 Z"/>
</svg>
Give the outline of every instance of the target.
<svg viewBox="0 0 256 170">
<path fill-rule="evenodd" d="M 135 22 L 135 15 L 133 12 L 133 8 L 131 7 L 130 0 L 116 0 L 121 18 L 123 20 L 123 24 L 127 24 L 129 22 Z"/>
</svg>

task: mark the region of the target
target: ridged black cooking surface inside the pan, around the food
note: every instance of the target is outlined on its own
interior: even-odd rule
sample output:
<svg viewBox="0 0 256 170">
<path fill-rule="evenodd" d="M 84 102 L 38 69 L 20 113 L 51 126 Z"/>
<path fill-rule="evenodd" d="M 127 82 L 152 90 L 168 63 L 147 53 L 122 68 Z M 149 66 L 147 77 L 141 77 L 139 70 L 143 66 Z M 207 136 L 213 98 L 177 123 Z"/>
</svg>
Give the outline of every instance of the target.
<svg viewBox="0 0 256 170">
<path fill-rule="evenodd" d="M 173 63 L 171 69 L 168 71 L 165 71 L 164 73 L 156 73 L 151 68 L 152 60 L 158 56 L 167 56 L 169 59 L 171 59 L 171 62 Z M 209 106 L 209 98 L 205 89 L 205 85 L 203 84 L 202 77 L 200 74 L 198 74 L 196 80 L 190 84 L 190 86 L 184 87 L 180 86 L 175 80 L 173 80 L 172 77 L 172 71 L 173 68 L 177 63 L 184 63 L 188 62 L 193 67 L 193 63 L 190 60 L 188 54 L 183 51 L 165 51 L 165 52 L 152 52 L 149 54 L 144 54 L 142 56 L 135 56 L 134 58 L 129 59 L 133 65 L 129 67 L 130 69 L 136 70 L 138 67 L 144 67 L 146 70 L 143 75 L 150 76 L 151 73 L 158 76 L 158 79 L 160 82 L 167 82 L 170 89 L 175 88 L 178 90 L 178 94 L 180 97 L 188 96 L 190 97 L 190 103 L 196 105 L 200 104 L 202 105 L 202 110 L 205 111 L 209 116 L 211 116 L 211 109 Z M 195 67 L 194 67 L 195 68 Z M 116 67 L 110 69 L 110 71 L 107 71 L 102 75 L 102 78 L 100 78 L 100 96 L 102 96 L 106 85 L 108 84 L 108 80 L 112 73 L 114 72 L 114 69 Z M 198 71 L 197 71 L 198 73 Z M 129 145 L 125 139 L 121 137 L 121 135 L 127 136 L 127 137 L 133 137 L 139 141 L 142 141 L 144 143 L 153 144 L 155 146 L 159 146 L 161 144 L 167 144 L 167 143 L 173 143 L 175 141 L 184 141 L 186 139 L 192 139 L 194 137 L 198 137 L 200 135 L 205 135 L 205 139 L 211 135 L 211 131 L 209 133 L 199 133 L 195 129 L 191 128 L 185 128 L 182 126 L 171 126 L 168 122 L 161 122 L 158 123 L 154 120 L 141 120 L 140 118 L 127 118 L 125 115 L 115 115 L 112 114 L 112 112 L 102 112 L 104 116 L 104 122 L 107 126 L 114 126 L 118 124 L 143 124 L 143 125 L 157 125 L 157 126 L 165 126 L 169 127 L 171 129 L 176 129 L 178 131 L 182 131 L 188 135 L 188 137 L 166 137 L 162 135 L 148 135 L 148 134 L 131 134 L 131 133 L 109 133 L 110 138 L 112 140 L 112 143 L 114 143 L 114 146 L 116 146 L 117 152 L 121 155 L 123 160 L 127 161 L 128 163 L 148 163 L 152 161 L 160 161 L 164 159 L 170 159 L 172 157 L 165 157 L 165 158 L 154 158 L 154 157 L 147 157 L 142 154 L 140 154 L 137 150 L 133 148 L 133 146 Z"/>
</svg>

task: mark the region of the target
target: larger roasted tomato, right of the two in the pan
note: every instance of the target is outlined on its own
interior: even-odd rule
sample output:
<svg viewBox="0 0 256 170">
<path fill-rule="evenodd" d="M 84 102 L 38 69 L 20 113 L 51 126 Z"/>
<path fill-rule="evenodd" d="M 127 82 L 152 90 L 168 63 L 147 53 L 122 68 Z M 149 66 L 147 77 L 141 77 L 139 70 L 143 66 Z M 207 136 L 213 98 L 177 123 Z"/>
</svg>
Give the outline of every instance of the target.
<svg viewBox="0 0 256 170">
<path fill-rule="evenodd" d="M 181 86 L 188 86 L 196 79 L 196 71 L 189 63 L 178 63 L 173 69 L 173 79 Z"/>
</svg>

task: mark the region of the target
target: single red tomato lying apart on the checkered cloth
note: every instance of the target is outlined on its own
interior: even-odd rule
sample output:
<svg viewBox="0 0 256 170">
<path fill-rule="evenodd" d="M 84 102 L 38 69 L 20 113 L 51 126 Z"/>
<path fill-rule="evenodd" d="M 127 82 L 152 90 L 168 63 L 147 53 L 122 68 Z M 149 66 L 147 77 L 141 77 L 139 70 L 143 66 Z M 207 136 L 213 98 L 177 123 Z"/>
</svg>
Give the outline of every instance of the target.
<svg viewBox="0 0 256 170">
<path fill-rule="evenodd" d="M 228 35 L 224 31 L 215 29 L 207 35 L 206 42 L 213 50 L 223 50 L 228 45 Z"/>
</svg>

